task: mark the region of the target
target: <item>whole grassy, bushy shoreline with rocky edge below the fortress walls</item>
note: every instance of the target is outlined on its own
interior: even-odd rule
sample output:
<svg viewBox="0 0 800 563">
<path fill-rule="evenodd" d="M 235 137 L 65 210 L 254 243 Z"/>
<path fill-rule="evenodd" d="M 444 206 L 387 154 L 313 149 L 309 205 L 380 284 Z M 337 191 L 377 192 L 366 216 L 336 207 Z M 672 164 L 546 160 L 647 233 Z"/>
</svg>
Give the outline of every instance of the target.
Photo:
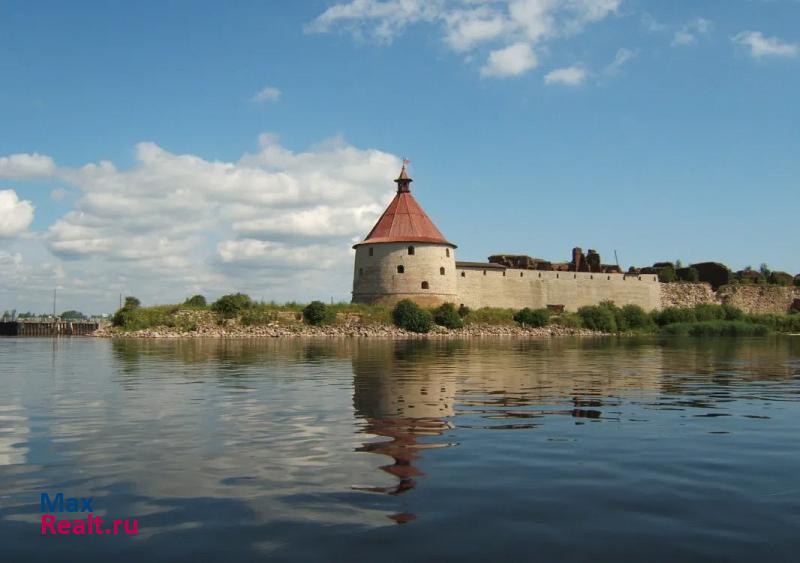
<svg viewBox="0 0 800 563">
<path fill-rule="evenodd" d="M 402 311 L 400 311 L 402 309 Z M 400 311 L 398 313 L 398 311 Z M 398 316 L 399 315 L 399 316 Z M 223 296 L 208 305 L 201 296 L 185 303 L 143 307 L 135 298 L 114 315 L 114 326 L 98 336 L 160 335 L 358 335 L 400 337 L 519 334 L 764 336 L 800 332 L 800 314 L 750 315 L 726 305 L 697 305 L 645 312 L 635 305 L 605 302 L 577 312 L 555 314 L 545 309 L 456 309 L 445 305 L 422 309 L 407 302 L 395 309 L 354 303 L 326 305 L 254 302 L 242 294 Z"/>
</svg>

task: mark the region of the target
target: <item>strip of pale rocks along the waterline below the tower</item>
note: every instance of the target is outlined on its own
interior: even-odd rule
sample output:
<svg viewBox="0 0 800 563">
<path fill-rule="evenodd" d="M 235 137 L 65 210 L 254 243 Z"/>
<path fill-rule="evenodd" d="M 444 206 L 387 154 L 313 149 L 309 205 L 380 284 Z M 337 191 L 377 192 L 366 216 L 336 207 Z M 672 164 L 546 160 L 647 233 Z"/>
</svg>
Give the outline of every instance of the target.
<svg viewBox="0 0 800 563">
<path fill-rule="evenodd" d="M 92 336 L 98 338 L 386 338 L 386 339 L 444 339 L 508 336 L 518 338 L 550 338 L 557 336 L 607 336 L 583 328 L 551 325 L 543 328 L 523 328 L 506 325 L 469 325 L 460 329 L 434 327 L 427 334 L 417 334 L 392 325 L 332 325 L 270 324 L 265 326 L 201 326 L 184 331 L 172 327 L 154 327 L 137 331 L 122 331 L 103 327 Z"/>
</svg>

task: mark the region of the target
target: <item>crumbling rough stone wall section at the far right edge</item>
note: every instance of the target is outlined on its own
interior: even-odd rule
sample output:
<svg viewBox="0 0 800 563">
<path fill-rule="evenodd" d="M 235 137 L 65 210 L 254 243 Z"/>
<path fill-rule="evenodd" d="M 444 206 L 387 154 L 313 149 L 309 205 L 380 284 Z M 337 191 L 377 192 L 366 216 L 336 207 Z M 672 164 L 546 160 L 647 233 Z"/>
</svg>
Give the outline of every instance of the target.
<svg viewBox="0 0 800 563">
<path fill-rule="evenodd" d="M 726 304 L 745 313 L 789 311 L 792 302 L 800 299 L 800 288 L 778 285 L 726 285 L 716 293 L 707 283 L 661 284 L 661 307 L 693 307 L 700 303 Z"/>
</svg>

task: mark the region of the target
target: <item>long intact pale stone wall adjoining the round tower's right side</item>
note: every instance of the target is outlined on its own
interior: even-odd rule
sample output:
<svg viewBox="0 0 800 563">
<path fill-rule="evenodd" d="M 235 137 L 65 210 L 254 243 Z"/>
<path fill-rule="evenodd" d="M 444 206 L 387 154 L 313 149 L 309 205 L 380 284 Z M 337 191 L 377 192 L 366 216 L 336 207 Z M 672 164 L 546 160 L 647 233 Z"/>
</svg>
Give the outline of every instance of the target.
<svg viewBox="0 0 800 563">
<path fill-rule="evenodd" d="M 610 300 L 617 305 L 639 305 L 646 311 L 661 306 L 661 284 L 655 275 L 536 270 L 481 270 L 458 268 L 459 300 L 472 308 L 521 309 L 563 305 L 576 311 L 584 305 Z"/>
</svg>

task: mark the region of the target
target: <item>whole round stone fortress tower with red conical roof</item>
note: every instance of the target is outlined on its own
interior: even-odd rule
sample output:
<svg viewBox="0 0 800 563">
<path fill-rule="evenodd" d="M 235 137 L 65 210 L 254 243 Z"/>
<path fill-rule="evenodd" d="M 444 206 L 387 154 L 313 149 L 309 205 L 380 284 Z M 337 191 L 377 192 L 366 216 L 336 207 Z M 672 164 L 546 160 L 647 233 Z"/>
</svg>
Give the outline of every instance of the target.
<svg viewBox="0 0 800 563">
<path fill-rule="evenodd" d="M 353 302 L 394 305 L 458 303 L 456 245 L 448 242 L 411 195 L 405 164 L 397 194 L 367 237 L 353 248 Z"/>
</svg>

